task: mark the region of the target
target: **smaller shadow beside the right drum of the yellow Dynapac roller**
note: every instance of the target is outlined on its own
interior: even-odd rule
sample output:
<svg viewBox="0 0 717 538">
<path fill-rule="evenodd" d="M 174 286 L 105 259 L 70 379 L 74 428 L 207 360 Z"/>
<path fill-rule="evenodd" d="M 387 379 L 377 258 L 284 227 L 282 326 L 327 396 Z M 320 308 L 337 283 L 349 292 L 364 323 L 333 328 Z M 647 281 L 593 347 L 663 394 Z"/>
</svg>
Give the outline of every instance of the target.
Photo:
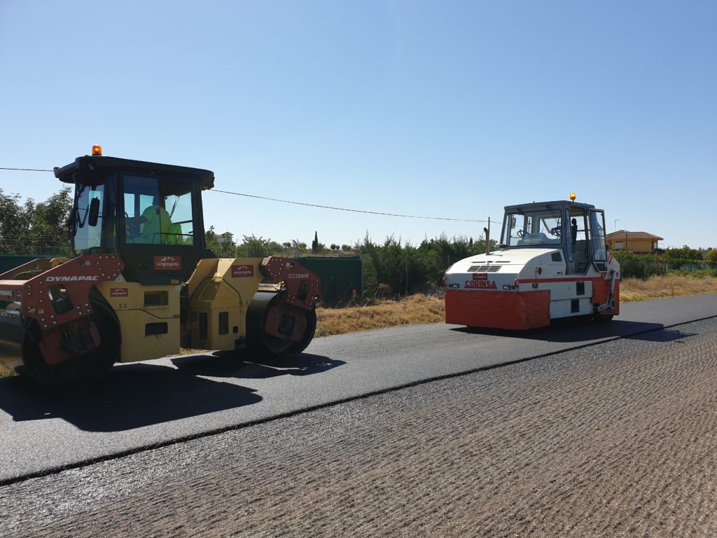
<svg viewBox="0 0 717 538">
<path fill-rule="evenodd" d="M 236 379 L 269 379 L 281 375 L 305 376 L 319 374 L 339 367 L 346 362 L 322 355 L 302 353 L 296 357 L 260 357 L 250 351 L 216 351 L 210 360 L 206 355 L 173 357 L 172 364 L 182 372 L 208 377 L 234 377 Z"/>
</svg>

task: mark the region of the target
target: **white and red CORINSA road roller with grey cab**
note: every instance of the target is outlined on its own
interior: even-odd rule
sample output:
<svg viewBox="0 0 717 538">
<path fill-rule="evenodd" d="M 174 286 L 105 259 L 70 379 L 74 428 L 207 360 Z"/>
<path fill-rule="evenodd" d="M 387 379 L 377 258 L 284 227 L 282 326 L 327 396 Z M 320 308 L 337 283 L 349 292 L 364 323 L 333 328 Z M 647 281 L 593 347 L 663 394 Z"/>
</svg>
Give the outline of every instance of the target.
<svg viewBox="0 0 717 538">
<path fill-rule="evenodd" d="M 499 249 L 445 273 L 446 323 L 533 329 L 551 320 L 619 313 L 620 268 L 602 209 L 569 201 L 505 207 Z"/>
</svg>

